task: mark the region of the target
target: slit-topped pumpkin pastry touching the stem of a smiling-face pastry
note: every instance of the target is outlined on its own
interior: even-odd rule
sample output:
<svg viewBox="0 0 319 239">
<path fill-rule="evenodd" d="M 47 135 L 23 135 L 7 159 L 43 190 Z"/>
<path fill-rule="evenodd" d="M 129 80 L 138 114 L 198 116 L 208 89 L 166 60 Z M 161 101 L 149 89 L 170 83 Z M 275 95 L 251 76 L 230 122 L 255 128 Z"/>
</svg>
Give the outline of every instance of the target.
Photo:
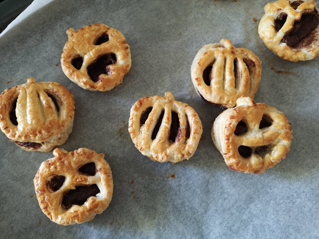
<svg viewBox="0 0 319 239">
<path fill-rule="evenodd" d="M 261 61 L 248 49 L 233 47 L 230 40 L 203 46 L 191 65 L 197 94 L 221 108 L 232 108 L 242 96 L 254 98 L 261 78 Z"/>
</svg>

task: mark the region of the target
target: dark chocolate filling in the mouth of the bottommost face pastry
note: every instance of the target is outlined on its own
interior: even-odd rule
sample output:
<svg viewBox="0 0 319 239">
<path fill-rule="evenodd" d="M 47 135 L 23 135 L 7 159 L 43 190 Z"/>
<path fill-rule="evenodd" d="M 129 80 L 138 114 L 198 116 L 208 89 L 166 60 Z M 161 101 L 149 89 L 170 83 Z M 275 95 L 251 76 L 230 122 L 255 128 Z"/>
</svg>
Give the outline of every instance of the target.
<svg viewBox="0 0 319 239">
<path fill-rule="evenodd" d="M 83 205 L 89 197 L 96 196 L 99 192 L 100 189 L 96 184 L 77 186 L 63 196 L 62 207 L 69 209 L 72 205 Z"/>
</svg>

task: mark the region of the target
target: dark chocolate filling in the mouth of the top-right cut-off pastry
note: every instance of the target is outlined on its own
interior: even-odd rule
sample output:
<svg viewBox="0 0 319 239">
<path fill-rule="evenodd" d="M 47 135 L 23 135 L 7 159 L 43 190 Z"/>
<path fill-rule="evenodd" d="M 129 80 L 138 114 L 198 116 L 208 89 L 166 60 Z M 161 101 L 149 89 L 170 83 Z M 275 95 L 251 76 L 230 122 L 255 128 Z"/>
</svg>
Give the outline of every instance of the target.
<svg viewBox="0 0 319 239">
<path fill-rule="evenodd" d="M 319 17 L 317 10 L 309 14 L 303 14 L 300 21 L 295 21 L 293 29 L 284 36 L 282 42 L 288 46 L 297 45 L 303 38 L 310 35 L 310 33 L 317 27 Z"/>
</svg>

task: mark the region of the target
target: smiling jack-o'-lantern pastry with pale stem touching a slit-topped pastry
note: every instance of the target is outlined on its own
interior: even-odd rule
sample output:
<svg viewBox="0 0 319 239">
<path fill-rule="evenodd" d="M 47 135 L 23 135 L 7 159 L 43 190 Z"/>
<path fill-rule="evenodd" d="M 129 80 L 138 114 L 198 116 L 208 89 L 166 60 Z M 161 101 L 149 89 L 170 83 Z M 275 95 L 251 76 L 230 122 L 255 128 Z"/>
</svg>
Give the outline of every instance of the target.
<svg viewBox="0 0 319 239">
<path fill-rule="evenodd" d="M 276 108 L 241 97 L 214 121 L 211 137 L 232 170 L 260 174 L 284 159 L 293 130 Z"/>
</svg>

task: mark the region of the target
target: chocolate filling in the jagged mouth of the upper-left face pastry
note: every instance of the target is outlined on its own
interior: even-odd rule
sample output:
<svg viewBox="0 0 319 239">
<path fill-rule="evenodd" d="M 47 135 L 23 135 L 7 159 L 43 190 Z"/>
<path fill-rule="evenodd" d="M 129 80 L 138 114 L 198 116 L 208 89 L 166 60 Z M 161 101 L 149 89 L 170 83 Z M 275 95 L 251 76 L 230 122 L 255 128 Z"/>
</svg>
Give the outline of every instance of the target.
<svg viewBox="0 0 319 239">
<path fill-rule="evenodd" d="M 116 63 L 116 55 L 114 53 L 109 53 L 106 55 L 99 56 L 96 61 L 88 66 L 88 74 L 92 81 L 97 82 L 100 80 L 101 74 L 111 74 L 108 65 Z"/>
</svg>

